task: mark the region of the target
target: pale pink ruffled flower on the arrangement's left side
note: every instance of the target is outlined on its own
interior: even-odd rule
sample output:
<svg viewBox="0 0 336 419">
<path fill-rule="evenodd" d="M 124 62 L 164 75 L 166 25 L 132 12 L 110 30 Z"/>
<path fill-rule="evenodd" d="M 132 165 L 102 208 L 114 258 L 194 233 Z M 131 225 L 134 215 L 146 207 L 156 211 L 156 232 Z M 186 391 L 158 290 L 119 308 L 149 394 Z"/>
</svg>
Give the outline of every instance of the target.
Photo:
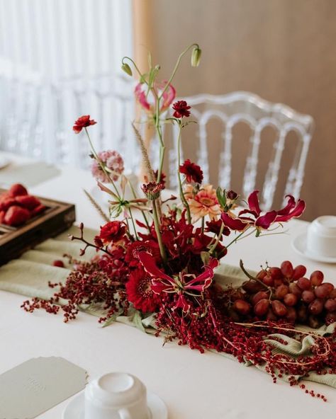
<svg viewBox="0 0 336 419">
<path fill-rule="evenodd" d="M 116 181 L 124 171 L 123 158 L 114 150 L 106 150 L 98 153 L 99 159 L 104 163 L 111 178 Z M 94 160 L 91 164 L 91 173 L 100 182 L 110 182 L 108 176 L 103 172 L 99 161 Z"/>
</svg>

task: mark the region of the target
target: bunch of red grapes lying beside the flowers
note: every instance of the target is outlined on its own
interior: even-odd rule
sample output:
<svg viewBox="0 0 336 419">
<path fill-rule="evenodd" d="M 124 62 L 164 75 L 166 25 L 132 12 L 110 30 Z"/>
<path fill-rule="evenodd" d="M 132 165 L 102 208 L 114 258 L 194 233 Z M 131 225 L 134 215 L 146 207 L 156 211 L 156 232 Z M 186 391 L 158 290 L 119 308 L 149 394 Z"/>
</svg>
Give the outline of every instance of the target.
<svg viewBox="0 0 336 419">
<path fill-rule="evenodd" d="M 293 268 L 285 260 L 280 268 L 267 267 L 252 277 L 242 263 L 241 267 L 250 280 L 231 294 L 231 314 L 240 318 L 284 319 L 312 328 L 336 321 L 336 289 L 330 282 L 323 282 L 320 270 L 306 277 L 305 266 Z"/>
</svg>

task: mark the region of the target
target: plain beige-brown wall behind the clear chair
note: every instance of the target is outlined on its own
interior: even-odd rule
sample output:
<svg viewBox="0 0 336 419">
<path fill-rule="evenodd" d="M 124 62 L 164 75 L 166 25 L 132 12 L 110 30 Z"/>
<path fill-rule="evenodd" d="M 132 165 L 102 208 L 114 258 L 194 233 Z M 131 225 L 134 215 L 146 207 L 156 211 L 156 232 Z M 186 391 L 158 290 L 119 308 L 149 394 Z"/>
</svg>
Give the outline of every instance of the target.
<svg viewBox="0 0 336 419">
<path fill-rule="evenodd" d="M 203 49 L 198 69 L 189 58 L 183 62 L 174 82 L 179 96 L 245 90 L 313 115 L 303 218 L 336 214 L 336 1 L 135 2 L 151 22 L 135 47 L 138 54 L 152 50 L 163 76 L 184 46 L 198 42 Z"/>
</svg>

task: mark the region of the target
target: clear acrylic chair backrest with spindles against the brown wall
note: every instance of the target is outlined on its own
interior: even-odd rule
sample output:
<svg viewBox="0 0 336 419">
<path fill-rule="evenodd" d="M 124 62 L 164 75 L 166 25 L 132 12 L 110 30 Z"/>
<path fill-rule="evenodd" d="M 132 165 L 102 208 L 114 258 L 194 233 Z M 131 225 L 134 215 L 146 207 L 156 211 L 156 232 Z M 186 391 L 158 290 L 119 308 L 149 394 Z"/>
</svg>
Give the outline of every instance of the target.
<svg viewBox="0 0 336 419">
<path fill-rule="evenodd" d="M 239 122 L 250 126 L 250 150 L 244 171 L 243 193 L 247 196 L 254 190 L 257 178 L 259 147 L 261 134 L 265 127 L 272 127 L 276 132 L 274 152 L 269 159 L 264 185 L 262 188 L 262 208 L 271 207 L 279 178 L 281 157 L 285 148 L 285 140 L 289 132 L 296 132 L 299 139 L 296 154 L 286 180 L 284 195 L 298 197 L 303 183 L 304 168 L 308 147 L 313 133 L 313 118 L 302 115 L 282 103 L 270 103 L 252 93 L 237 91 L 223 96 L 201 94 L 184 98 L 191 105 L 191 117 L 198 122 L 198 164 L 203 169 L 204 180 L 209 180 L 209 156 L 207 125 L 213 118 L 223 124 L 223 144 L 219 157 L 218 185 L 230 188 L 233 166 L 233 127 Z M 177 144 L 177 127 L 173 127 L 174 147 Z M 169 177 L 171 185 L 176 182 L 176 149 L 170 151 Z"/>
</svg>

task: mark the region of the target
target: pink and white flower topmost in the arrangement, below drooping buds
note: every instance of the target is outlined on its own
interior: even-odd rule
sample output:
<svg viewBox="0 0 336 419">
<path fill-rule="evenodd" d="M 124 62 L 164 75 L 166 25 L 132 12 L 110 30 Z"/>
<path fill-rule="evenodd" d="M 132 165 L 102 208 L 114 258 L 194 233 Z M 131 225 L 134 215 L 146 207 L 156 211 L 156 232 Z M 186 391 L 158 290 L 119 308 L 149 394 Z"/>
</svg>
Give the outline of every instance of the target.
<svg viewBox="0 0 336 419">
<path fill-rule="evenodd" d="M 162 93 L 166 84 L 167 84 L 167 81 L 155 82 L 154 90 L 157 96 L 159 96 Z M 140 103 L 142 108 L 144 108 L 145 110 L 153 114 L 156 112 L 156 98 L 155 96 L 152 95 L 151 92 L 147 94 L 147 85 L 145 83 L 137 84 L 137 86 L 135 86 L 134 93 L 135 93 L 135 98 Z M 169 108 L 169 106 L 174 101 L 175 95 L 176 95 L 176 91 L 174 87 L 171 84 L 169 84 L 167 90 L 164 91 L 162 95 L 162 100 L 160 102 L 160 109 L 159 109 L 160 113 L 164 112 L 164 110 L 167 110 Z"/>
</svg>

